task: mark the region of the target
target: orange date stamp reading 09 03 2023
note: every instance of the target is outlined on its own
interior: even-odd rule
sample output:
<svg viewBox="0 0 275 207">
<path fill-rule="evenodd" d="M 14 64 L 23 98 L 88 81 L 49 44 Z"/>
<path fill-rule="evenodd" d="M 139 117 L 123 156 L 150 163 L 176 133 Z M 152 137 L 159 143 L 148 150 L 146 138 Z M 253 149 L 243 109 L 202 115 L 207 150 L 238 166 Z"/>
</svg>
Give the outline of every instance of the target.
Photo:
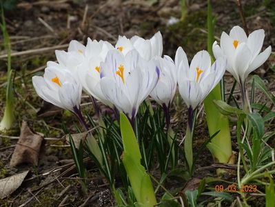
<svg viewBox="0 0 275 207">
<path fill-rule="evenodd" d="M 239 189 L 235 184 L 232 184 L 229 186 L 216 185 L 215 191 L 216 192 L 227 192 L 227 193 L 235 193 L 235 192 L 256 193 L 257 186 L 256 185 L 242 185 L 241 188 Z"/>
</svg>

